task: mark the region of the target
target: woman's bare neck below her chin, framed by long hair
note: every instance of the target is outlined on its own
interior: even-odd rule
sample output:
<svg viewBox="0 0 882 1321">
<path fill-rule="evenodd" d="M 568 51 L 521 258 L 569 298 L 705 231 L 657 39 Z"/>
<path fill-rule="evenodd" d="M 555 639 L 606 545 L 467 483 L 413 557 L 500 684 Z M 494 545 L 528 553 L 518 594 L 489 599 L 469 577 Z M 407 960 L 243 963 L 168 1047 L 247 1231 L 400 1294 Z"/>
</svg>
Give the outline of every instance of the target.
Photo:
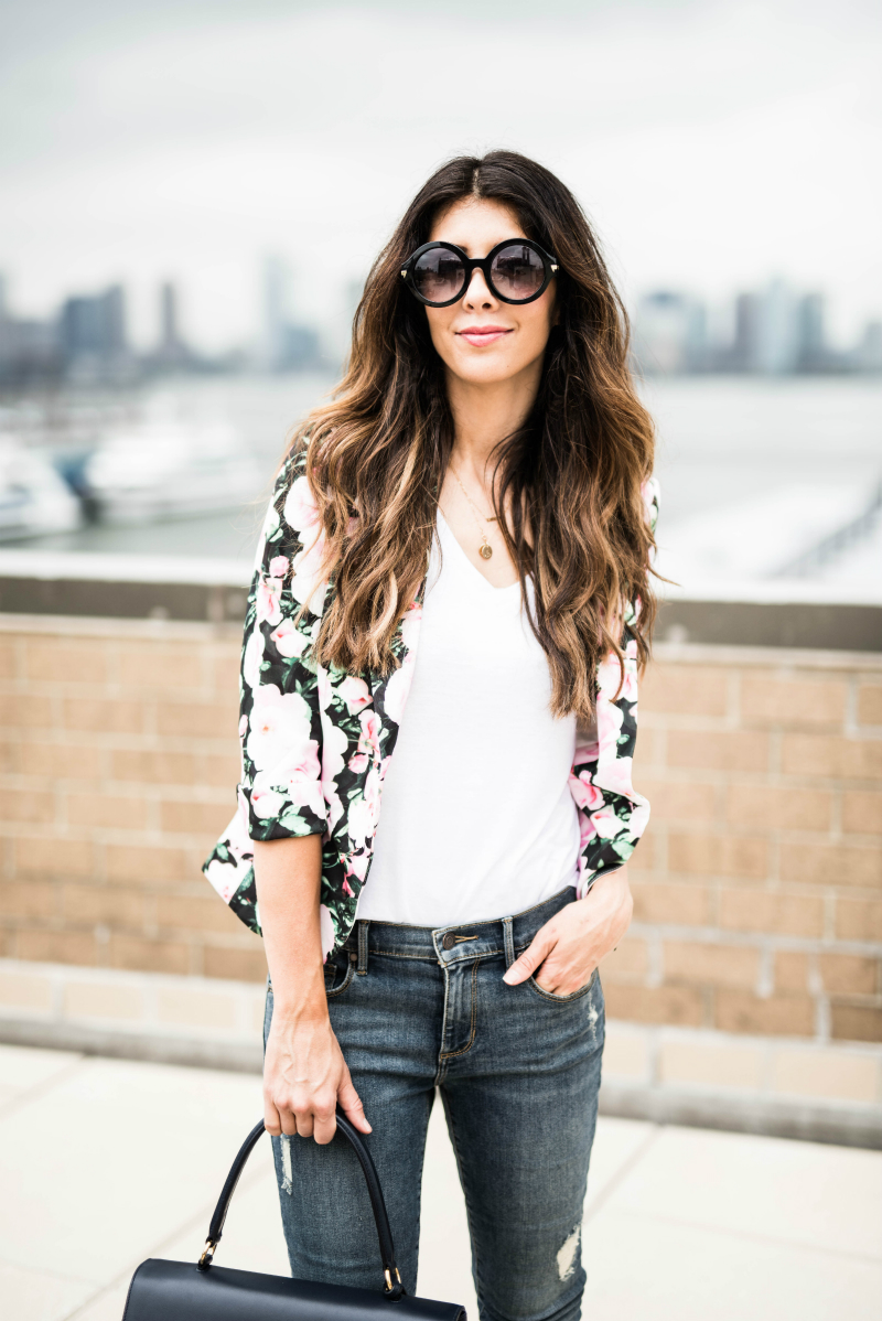
<svg viewBox="0 0 882 1321">
<path fill-rule="evenodd" d="M 490 384 L 448 375 L 454 436 L 450 457 L 459 473 L 474 476 L 482 485 L 487 481 L 494 449 L 524 424 L 533 407 L 541 362 L 536 366 L 539 370 Z"/>
</svg>

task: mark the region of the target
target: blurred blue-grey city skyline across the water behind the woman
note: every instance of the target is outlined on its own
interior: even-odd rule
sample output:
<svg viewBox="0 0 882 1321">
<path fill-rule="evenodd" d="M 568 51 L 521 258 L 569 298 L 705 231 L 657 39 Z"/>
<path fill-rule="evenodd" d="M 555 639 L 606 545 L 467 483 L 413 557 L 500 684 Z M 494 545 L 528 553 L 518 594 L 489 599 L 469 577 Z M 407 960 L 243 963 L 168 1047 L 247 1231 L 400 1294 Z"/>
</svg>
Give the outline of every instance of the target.
<svg viewBox="0 0 882 1321">
<path fill-rule="evenodd" d="M 63 293 L 55 313 L 40 320 L 17 314 L 0 271 L 0 383 L 95 374 L 127 382 L 168 371 L 334 370 L 341 355 L 298 308 L 296 283 L 284 258 L 264 258 L 257 333 L 243 329 L 227 353 L 211 354 L 182 324 L 176 281 L 162 280 L 154 291 L 154 333 L 144 346 L 131 337 L 123 284 Z M 349 281 L 339 295 L 351 318 L 360 281 Z M 846 346 L 837 345 L 829 336 L 825 293 L 780 277 L 714 303 L 684 289 L 647 289 L 628 313 L 635 370 L 647 375 L 882 373 L 882 316 L 867 318 Z"/>
</svg>

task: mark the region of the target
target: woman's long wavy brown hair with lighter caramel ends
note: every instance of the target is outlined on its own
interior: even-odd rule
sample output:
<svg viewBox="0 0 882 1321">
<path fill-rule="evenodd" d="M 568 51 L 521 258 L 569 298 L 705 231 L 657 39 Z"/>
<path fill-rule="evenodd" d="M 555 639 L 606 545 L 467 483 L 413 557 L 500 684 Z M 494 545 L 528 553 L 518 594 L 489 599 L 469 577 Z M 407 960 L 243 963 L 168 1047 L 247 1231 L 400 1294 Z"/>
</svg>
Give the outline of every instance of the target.
<svg viewBox="0 0 882 1321">
<path fill-rule="evenodd" d="M 293 435 L 292 448 L 308 445 L 334 581 L 316 657 L 388 674 L 397 622 L 425 579 L 454 428 L 444 363 L 400 271 L 463 198 L 508 206 L 560 263 L 559 324 L 535 406 L 494 452 L 494 511 L 522 592 L 533 579 L 531 626 L 548 655 L 552 711 L 590 719 L 601 657 L 615 653 L 625 672 L 627 601 L 638 602 L 630 631 L 640 667 L 650 655 L 654 539 L 640 487 L 654 428 L 628 369 L 627 316 L 581 206 L 515 152 L 457 157 L 420 189 L 367 277 L 342 382 Z"/>
</svg>

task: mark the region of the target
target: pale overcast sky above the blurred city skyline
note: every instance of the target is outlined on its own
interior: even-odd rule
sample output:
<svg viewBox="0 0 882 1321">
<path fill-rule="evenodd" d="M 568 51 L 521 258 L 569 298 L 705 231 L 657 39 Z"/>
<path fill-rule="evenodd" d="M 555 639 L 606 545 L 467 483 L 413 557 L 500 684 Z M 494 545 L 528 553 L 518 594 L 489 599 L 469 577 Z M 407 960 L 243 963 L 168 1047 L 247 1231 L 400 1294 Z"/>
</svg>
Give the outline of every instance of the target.
<svg viewBox="0 0 882 1321">
<path fill-rule="evenodd" d="M 783 275 L 882 313 L 882 7 L 865 0 L 5 0 L 0 271 L 13 308 L 123 280 L 156 336 L 252 337 L 261 255 L 333 326 L 445 157 L 504 145 L 578 194 L 626 295 Z"/>
</svg>

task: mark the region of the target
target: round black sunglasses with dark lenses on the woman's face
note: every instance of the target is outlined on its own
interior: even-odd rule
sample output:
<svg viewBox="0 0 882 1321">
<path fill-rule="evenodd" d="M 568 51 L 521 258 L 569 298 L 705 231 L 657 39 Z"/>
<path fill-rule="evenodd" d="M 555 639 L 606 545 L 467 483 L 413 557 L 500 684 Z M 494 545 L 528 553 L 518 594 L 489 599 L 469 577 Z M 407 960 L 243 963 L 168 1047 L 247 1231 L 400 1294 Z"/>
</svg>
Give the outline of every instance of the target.
<svg viewBox="0 0 882 1321">
<path fill-rule="evenodd" d="M 449 308 L 469 288 L 475 267 L 500 303 L 532 303 L 557 273 L 557 262 L 539 243 L 506 239 L 477 258 L 466 256 L 456 243 L 424 243 L 401 267 L 401 279 L 420 303 Z"/>
</svg>

